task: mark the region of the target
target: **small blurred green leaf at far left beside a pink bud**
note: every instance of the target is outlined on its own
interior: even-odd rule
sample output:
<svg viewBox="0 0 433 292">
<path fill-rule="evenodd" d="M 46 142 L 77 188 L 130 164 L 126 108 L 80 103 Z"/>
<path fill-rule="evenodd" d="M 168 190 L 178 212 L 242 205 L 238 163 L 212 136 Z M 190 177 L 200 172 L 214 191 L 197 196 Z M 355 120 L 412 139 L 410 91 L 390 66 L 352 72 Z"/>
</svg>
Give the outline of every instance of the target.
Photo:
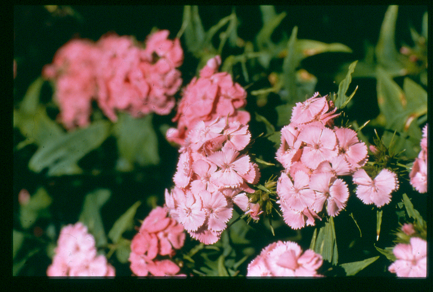
<svg viewBox="0 0 433 292">
<path fill-rule="evenodd" d="M 26 205 L 20 207 L 20 222 L 24 229 L 31 227 L 36 220 L 46 212 L 52 199 L 47 191 L 41 187 L 30 197 Z"/>
</svg>

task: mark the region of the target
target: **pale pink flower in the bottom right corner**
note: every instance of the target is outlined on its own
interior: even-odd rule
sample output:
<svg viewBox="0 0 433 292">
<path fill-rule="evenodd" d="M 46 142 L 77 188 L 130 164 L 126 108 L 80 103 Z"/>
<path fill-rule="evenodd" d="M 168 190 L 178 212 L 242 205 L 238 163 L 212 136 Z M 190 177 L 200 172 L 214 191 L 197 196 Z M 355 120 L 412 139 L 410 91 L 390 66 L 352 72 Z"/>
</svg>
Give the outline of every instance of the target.
<svg viewBox="0 0 433 292">
<path fill-rule="evenodd" d="M 411 237 L 410 244 L 399 243 L 393 253 L 397 260 L 388 270 L 398 277 L 427 276 L 427 242 L 418 237 Z"/>
</svg>

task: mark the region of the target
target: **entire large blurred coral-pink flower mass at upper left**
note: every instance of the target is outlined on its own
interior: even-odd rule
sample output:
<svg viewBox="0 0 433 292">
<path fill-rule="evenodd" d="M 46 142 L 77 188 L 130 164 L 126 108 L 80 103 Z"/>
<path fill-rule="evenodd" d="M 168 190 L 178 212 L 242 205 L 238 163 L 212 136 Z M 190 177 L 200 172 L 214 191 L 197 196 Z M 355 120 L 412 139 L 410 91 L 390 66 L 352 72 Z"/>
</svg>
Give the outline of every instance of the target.
<svg viewBox="0 0 433 292">
<path fill-rule="evenodd" d="M 42 75 L 55 82 L 59 120 L 67 129 L 86 126 L 95 99 L 104 114 L 117 120 L 116 110 L 140 117 L 169 114 L 182 79 L 178 39 L 169 31 L 150 35 L 143 49 L 130 36 L 106 34 L 95 44 L 74 39 L 62 46 Z"/>
</svg>

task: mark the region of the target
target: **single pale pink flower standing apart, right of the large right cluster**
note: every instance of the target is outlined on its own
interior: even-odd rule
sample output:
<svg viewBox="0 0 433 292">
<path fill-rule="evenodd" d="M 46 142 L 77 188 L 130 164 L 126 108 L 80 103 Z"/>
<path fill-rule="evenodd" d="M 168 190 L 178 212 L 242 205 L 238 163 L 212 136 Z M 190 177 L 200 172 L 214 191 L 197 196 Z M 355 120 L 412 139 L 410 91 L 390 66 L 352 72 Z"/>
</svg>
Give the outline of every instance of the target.
<svg viewBox="0 0 433 292">
<path fill-rule="evenodd" d="M 375 204 L 382 207 L 391 201 L 391 193 L 398 189 L 397 175 L 384 168 L 371 179 L 364 169 L 359 169 L 353 176 L 356 187 L 356 196 L 365 204 Z"/>
</svg>

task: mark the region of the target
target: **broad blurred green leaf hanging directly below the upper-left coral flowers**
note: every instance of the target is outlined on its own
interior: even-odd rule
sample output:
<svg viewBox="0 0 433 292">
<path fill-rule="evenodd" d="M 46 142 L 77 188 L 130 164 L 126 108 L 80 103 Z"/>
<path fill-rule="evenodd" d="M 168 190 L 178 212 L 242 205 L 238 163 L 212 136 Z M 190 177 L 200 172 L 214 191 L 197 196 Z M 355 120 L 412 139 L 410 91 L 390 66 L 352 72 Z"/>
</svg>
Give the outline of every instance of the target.
<svg viewBox="0 0 433 292">
<path fill-rule="evenodd" d="M 134 162 L 141 166 L 159 164 L 158 137 L 152 124 L 152 114 L 133 118 L 122 113 L 113 130 L 120 157 L 117 170 L 131 171 Z"/>
</svg>

